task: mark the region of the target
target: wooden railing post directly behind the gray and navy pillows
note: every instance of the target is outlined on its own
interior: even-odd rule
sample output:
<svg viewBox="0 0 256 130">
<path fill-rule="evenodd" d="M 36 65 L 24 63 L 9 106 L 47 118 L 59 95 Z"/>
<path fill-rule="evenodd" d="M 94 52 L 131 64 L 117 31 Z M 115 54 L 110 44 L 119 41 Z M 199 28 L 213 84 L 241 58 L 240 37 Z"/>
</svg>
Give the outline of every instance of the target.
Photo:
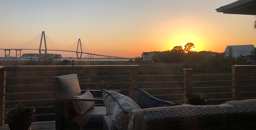
<svg viewBox="0 0 256 130">
<path fill-rule="evenodd" d="M 130 76 L 131 76 L 130 96 L 131 96 L 131 99 L 137 103 L 134 88 L 139 87 L 139 68 L 132 68 L 130 70 Z"/>
</svg>

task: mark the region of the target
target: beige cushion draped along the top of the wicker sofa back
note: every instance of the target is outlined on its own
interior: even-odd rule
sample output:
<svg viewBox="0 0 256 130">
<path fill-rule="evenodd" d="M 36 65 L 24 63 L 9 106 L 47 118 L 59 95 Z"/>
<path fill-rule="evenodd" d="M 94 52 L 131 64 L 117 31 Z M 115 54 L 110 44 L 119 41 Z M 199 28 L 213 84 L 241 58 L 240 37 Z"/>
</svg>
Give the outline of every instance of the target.
<svg viewBox="0 0 256 130">
<path fill-rule="evenodd" d="M 247 106 L 247 105 L 249 106 L 256 105 L 256 99 L 248 99 L 248 100 L 242 100 L 242 101 L 227 101 L 226 103 L 223 103 L 221 105 L 193 106 L 193 105 L 183 104 L 179 106 L 164 106 L 164 107 L 132 110 L 128 114 L 128 118 L 129 118 L 128 130 L 141 130 L 141 114 L 143 111 L 189 109 L 189 108 L 202 108 L 202 107 L 222 107 L 222 106 Z"/>
</svg>

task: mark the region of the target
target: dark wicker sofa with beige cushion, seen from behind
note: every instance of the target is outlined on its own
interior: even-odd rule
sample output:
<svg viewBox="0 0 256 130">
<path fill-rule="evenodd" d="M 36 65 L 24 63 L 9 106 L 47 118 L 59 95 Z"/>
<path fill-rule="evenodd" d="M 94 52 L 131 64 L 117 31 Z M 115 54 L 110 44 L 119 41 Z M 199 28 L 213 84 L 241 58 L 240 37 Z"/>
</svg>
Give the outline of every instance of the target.
<svg viewBox="0 0 256 130">
<path fill-rule="evenodd" d="M 128 130 L 256 129 L 256 106 L 254 105 L 256 105 L 256 99 L 228 101 L 222 105 L 193 106 L 184 104 L 180 106 L 137 109 L 130 111 L 128 114 Z M 234 109 L 236 111 L 233 112 Z M 201 113 L 199 113 L 200 111 Z M 171 123 L 175 121 L 176 123 Z M 239 121 L 243 121 L 241 122 L 243 124 L 237 125 Z M 208 125 L 202 127 L 200 125 L 202 122 Z M 108 116 L 103 117 L 103 129 L 116 129 Z"/>
</svg>

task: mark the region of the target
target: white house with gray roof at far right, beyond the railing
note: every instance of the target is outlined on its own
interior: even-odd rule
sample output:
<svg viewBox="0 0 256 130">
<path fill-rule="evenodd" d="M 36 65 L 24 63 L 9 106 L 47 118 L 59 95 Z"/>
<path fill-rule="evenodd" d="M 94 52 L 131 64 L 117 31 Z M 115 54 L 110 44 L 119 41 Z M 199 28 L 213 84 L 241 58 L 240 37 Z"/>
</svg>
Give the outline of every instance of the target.
<svg viewBox="0 0 256 130">
<path fill-rule="evenodd" d="M 255 48 L 253 45 L 228 45 L 224 51 L 227 56 L 245 57 L 247 62 L 255 62 Z"/>
</svg>

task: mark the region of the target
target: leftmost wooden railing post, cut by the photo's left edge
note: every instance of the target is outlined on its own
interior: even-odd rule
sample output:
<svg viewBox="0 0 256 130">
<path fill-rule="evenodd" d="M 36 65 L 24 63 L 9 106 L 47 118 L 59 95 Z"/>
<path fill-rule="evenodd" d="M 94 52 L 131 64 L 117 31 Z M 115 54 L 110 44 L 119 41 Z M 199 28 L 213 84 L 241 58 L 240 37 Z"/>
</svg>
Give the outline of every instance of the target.
<svg viewBox="0 0 256 130">
<path fill-rule="evenodd" d="M 5 104 L 4 104 L 4 101 L 5 101 L 5 78 L 6 78 L 6 71 L 4 71 L 4 69 L 1 69 L 0 70 L 0 93 L 1 93 L 1 108 L 0 108 L 0 126 L 3 126 L 4 125 L 4 107 L 5 107 Z"/>
</svg>

